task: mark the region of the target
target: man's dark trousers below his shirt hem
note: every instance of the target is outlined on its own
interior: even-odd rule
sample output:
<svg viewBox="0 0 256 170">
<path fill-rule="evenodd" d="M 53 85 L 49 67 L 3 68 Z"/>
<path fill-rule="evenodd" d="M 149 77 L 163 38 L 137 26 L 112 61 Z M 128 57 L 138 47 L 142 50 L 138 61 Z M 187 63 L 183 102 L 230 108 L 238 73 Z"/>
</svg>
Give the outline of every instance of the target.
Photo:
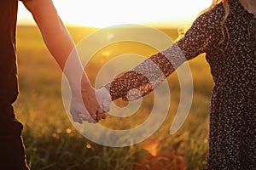
<svg viewBox="0 0 256 170">
<path fill-rule="evenodd" d="M 0 107 L 0 169 L 28 170 L 24 144 L 21 138 L 23 125 L 15 119 L 12 105 Z"/>
</svg>

